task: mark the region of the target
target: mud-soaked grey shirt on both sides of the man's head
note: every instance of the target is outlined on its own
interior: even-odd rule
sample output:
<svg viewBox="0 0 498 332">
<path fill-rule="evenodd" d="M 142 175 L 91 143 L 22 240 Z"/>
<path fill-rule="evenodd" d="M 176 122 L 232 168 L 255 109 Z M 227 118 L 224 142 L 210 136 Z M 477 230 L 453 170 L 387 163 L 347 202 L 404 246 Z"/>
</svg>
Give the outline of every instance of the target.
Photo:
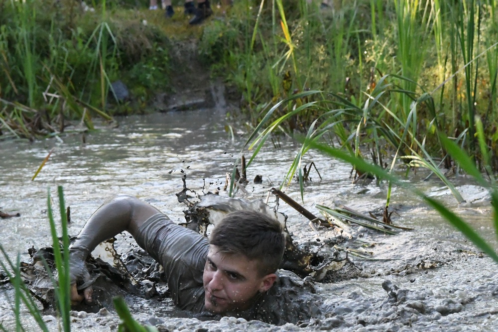
<svg viewBox="0 0 498 332">
<path fill-rule="evenodd" d="M 208 239 L 157 214 L 140 226 L 135 240 L 162 265 L 173 303 L 182 310 L 205 312 L 202 275 Z M 273 287 L 258 295 L 249 310 L 229 314 L 275 325 L 297 323 L 319 314 L 321 297 L 311 284 L 285 270 L 278 270 L 277 276 Z"/>
</svg>

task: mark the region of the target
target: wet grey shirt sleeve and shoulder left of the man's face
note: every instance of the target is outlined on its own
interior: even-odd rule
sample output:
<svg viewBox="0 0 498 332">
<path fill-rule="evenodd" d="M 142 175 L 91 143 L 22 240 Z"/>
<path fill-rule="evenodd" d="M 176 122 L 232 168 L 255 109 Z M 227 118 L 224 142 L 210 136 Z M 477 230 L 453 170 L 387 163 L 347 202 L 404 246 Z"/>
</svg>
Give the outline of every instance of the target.
<svg viewBox="0 0 498 332">
<path fill-rule="evenodd" d="M 201 312 L 208 239 L 157 214 L 140 226 L 135 241 L 164 268 L 173 303 L 183 310 Z"/>
</svg>

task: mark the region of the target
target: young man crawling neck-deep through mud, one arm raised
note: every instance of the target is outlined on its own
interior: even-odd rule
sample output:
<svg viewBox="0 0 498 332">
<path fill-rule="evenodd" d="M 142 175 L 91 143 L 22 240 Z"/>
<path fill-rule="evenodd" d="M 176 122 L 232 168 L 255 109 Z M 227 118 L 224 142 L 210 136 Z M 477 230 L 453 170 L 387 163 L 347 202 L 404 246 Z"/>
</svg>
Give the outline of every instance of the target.
<svg viewBox="0 0 498 332">
<path fill-rule="evenodd" d="M 90 280 L 85 267 L 88 254 L 100 242 L 124 230 L 163 266 L 173 302 L 180 309 L 246 319 L 264 317 L 261 320 L 273 324 L 310 316 L 292 310 L 284 315 L 285 309 L 292 306 L 289 303 L 297 303 L 295 299 L 278 305 L 273 299 L 282 298 L 281 292 L 270 295 L 267 292 L 275 281 L 280 282 L 276 270 L 285 249 L 285 236 L 279 221 L 256 212 L 235 212 L 216 225 L 208 241 L 128 195 L 118 196 L 101 206 L 71 246 L 73 304 L 92 301 L 91 286 L 84 286 L 82 295 L 76 288 L 76 282 Z M 287 286 L 302 288 L 300 281 L 291 279 L 286 281 Z M 303 297 L 300 299 L 302 302 Z M 300 303 L 297 310 L 310 311 L 309 308 L 316 306 L 315 298 L 307 301 L 309 303 Z M 278 313 L 272 313 L 270 308 Z"/>
</svg>

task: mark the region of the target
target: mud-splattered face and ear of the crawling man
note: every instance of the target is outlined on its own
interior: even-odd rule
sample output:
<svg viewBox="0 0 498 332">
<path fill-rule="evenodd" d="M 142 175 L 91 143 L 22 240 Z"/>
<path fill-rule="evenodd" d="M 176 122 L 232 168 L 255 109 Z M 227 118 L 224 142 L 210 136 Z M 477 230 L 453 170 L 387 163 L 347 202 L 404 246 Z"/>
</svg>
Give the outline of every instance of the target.
<svg viewBox="0 0 498 332">
<path fill-rule="evenodd" d="M 252 298 L 276 279 L 273 273 L 259 277 L 257 265 L 257 260 L 224 254 L 211 245 L 202 278 L 206 309 L 215 314 L 248 309 Z"/>
</svg>

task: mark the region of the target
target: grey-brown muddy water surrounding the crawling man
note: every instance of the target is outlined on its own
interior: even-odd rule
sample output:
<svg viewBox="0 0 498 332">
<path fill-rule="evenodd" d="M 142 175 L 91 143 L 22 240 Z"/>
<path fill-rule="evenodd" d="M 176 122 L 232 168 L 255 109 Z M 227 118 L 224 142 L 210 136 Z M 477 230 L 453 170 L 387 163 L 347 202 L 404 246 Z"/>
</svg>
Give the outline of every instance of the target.
<svg viewBox="0 0 498 332">
<path fill-rule="evenodd" d="M 226 195 L 226 173 L 231 172 L 247 134 L 242 126 L 236 127 L 235 137 L 231 137 L 225 131 L 224 115 L 215 110 L 130 116 L 120 118 L 119 123 L 117 128 L 87 133 L 85 139 L 74 134 L 34 143 L 0 142 L 0 210 L 21 215 L 0 224 L 1 244 L 9 255 L 19 252 L 21 260 L 27 261 L 27 248 L 50 243 L 47 190 L 50 188 L 55 197 L 57 185 L 64 187 L 66 204 L 71 207 L 70 234 L 78 232 L 105 198 L 118 193 L 135 195 L 173 220 L 183 221 L 184 207 L 175 196 L 182 188 L 183 174 L 187 174 L 189 188 L 199 193 L 221 190 Z M 31 181 L 52 149 L 49 161 Z M 244 196 L 266 198 L 269 188 L 280 185 L 296 150 L 291 143 L 280 147 L 268 144 L 248 170 L 249 180 L 261 175 L 263 183 L 251 181 L 249 196 Z M 310 152 L 305 161 L 313 161 L 321 176 L 312 170 L 312 181 L 306 185 L 304 206 L 314 214 L 318 214 L 315 204 L 344 204 L 364 213 L 382 208 L 385 186 L 353 186 L 349 166 L 317 153 Z M 422 178 L 419 174 L 407 181 L 452 207 L 496 245 L 489 198 L 482 188 L 464 177 L 453 179 L 467 201 L 457 205 L 440 182 L 419 181 Z M 300 199 L 295 182 L 285 192 Z M 478 254 L 409 192 L 395 189 L 391 208 L 396 211 L 392 215 L 396 224 L 415 230 L 387 236 L 351 226 L 352 234 L 362 234 L 371 243 L 365 250 L 378 260 L 352 256 L 357 267 L 345 267 L 334 283 L 318 283 L 324 298 L 323 315 L 309 322 L 282 327 L 231 318 L 200 322 L 185 318 L 185 313 L 175 311 L 168 301 L 130 297 L 128 304 L 137 319 L 156 325 L 160 331 L 495 331 L 497 265 Z M 285 204 L 279 210 L 289 216 L 289 230 L 302 245 L 318 249 L 317 239 L 332 236 L 329 230 L 311 229 Z M 122 251 L 132 245 L 126 234 L 119 236 L 118 242 Z M 119 322 L 112 313 L 74 316 L 75 331 L 111 331 Z M 5 295 L 0 295 L 0 320 L 12 326 Z M 56 321 L 48 324 L 57 330 Z M 28 323 L 27 330 L 37 328 Z"/>
</svg>

